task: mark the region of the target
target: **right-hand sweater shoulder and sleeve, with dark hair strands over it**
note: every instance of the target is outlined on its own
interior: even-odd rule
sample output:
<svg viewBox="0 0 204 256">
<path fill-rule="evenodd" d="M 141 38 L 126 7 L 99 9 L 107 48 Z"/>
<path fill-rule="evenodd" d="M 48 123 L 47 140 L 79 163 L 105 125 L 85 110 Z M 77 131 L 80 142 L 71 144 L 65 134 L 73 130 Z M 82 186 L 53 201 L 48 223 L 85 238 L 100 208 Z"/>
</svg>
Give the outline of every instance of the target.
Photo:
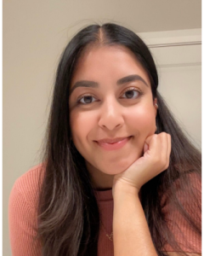
<svg viewBox="0 0 204 256">
<path fill-rule="evenodd" d="M 178 179 L 173 183 L 173 194 L 163 196 L 162 213 L 168 230 L 184 252 L 199 255 L 196 253 L 201 253 L 200 174 L 192 172 L 184 180 Z M 172 252 L 173 248 L 167 244 L 166 250 Z"/>
</svg>

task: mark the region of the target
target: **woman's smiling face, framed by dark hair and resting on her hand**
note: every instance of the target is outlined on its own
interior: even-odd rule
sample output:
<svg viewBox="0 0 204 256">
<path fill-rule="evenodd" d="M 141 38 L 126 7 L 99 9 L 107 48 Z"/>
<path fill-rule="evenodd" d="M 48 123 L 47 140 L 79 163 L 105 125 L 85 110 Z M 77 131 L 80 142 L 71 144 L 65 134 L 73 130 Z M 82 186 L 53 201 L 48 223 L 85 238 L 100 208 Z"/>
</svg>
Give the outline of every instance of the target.
<svg viewBox="0 0 204 256">
<path fill-rule="evenodd" d="M 142 156 L 146 137 L 156 131 L 150 79 L 125 47 L 94 47 L 80 58 L 70 90 L 73 143 L 96 187 L 111 188 L 114 175 Z M 130 136 L 118 149 L 107 150 L 96 142 Z"/>
</svg>

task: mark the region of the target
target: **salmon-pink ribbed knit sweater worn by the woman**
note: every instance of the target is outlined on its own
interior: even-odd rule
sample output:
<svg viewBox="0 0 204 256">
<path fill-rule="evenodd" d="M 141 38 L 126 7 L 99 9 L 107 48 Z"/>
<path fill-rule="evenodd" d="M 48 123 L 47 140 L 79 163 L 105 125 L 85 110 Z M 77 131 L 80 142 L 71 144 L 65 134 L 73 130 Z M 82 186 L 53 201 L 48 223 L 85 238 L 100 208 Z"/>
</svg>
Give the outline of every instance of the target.
<svg viewBox="0 0 204 256">
<path fill-rule="evenodd" d="M 39 241 L 33 241 L 37 232 L 37 198 L 41 165 L 33 167 L 30 171 L 19 177 L 14 183 L 8 204 L 9 236 L 13 256 L 40 256 L 41 245 Z M 201 190 L 201 182 L 196 181 L 196 186 Z M 113 241 L 106 234 L 111 235 L 113 220 L 113 198 L 112 189 L 105 191 L 95 190 L 95 195 L 99 203 L 99 212 L 102 218 L 98 256 L 114 256 Z M 201 238 L 190 230 L 190 226 L 185 223 L 184 218 L 178 212 L 169 212 L 168 205 L 163 207 L 169 228 L 173 231 L 180 246 L 186 252 L 190 252 L 187 245 L 193 247 L 194 253 L 201 253 Z M 171 220 L 177 225 L 172 225 Z M 180 236 L 179 230 L 184 231 L 185 237 Z M 186 238 L 186 241 L 184 241 Z M 173 248 L 166 245 L 168 252 L 173 252 Z"/>
</svg>

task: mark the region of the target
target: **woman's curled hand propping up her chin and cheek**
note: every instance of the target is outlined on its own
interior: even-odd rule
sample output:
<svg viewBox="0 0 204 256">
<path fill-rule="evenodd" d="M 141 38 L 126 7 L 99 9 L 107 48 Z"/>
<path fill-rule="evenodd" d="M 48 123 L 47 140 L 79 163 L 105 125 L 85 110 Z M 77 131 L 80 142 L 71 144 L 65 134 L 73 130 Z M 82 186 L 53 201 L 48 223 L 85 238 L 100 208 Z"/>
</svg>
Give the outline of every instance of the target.
<svg viewBox="0 0 204 256">
<path fill-rule="evenodd" d="M 169 166 L 171 153 L 171 136 L 166 132 L 147 137 L 144 143 L 144 155 L 133 162 L 127 170 L 116 174 L 113 181 L 113 190 L 116 183 L 122 183 L 139 189 L 153 177 L 163 172 Z"/>
</svg>

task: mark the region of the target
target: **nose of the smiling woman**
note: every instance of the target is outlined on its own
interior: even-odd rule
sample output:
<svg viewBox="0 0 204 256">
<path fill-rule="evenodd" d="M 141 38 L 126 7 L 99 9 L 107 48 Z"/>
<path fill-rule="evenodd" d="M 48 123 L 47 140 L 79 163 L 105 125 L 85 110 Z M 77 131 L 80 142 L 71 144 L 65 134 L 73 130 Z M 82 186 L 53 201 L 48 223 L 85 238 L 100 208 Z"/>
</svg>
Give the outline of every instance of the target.
<svg viewBox="0 0 204 256">
<path fill-rule="evenodd" d="M 107 99 L 100 108 L 99 126 L 113 131 L 124 124 L 122 106 L 115 98 Z"/>
</svg>

